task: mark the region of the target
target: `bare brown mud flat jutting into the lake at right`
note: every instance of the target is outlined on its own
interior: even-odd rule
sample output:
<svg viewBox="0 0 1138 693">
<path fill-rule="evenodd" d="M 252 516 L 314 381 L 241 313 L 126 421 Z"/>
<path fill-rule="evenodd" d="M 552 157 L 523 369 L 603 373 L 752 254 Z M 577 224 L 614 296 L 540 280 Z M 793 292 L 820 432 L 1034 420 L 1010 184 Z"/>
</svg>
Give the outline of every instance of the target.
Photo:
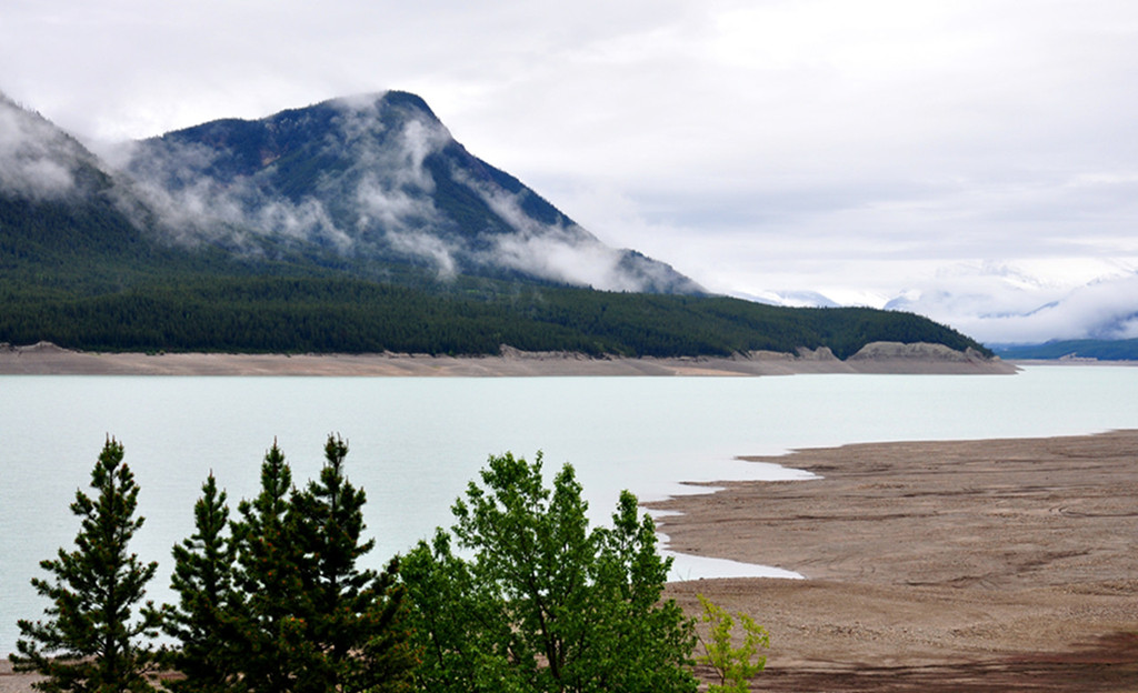
<svg viewBox="0 0 1138 693">
<path fill-rule="evenodd" d="M 770 632 L 762 691 L 1138 691 L 1138 431 L 751 457 L 820 479 L 650 504 L 670 547 L 806 580 L 678 583 Z"/>
</svg>

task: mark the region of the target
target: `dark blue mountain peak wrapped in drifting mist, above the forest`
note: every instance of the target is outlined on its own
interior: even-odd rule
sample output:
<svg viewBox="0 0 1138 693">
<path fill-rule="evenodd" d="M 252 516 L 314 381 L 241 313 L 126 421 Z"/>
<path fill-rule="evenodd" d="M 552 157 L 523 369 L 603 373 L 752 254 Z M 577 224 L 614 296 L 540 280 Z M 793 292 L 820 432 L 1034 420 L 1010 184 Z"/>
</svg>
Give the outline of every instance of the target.
<svg viewBox="0 0 1138 693">
<path fill-rule="evenodd" d="M 665 263 L 605 246 L 456 142 L 427 104 L 391 91 L 139 142 L 135 193 L 180 242 L 442 279 L 523 277 L 603 290 L 694 294 Z"/>
</svg>

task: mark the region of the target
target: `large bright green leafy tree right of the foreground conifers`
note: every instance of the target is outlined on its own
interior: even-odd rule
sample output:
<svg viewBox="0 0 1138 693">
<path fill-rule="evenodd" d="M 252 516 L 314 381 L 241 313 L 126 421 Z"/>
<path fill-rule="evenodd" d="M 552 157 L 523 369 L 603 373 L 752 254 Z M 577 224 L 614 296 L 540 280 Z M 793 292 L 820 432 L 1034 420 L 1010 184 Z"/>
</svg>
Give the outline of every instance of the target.
<svg viewBox="0 0 1138 693">
<path fill-rule="evenodd" d="M 670 559 L 652 520 L 621 494 L 611 528 L 591 529 L 571 465 L 552 492 L 542 456 L 490 457 L 483 485 L 404 559 L 426 691 L 694 691 L 693 624 L 660 601 Z"/>
</svg>

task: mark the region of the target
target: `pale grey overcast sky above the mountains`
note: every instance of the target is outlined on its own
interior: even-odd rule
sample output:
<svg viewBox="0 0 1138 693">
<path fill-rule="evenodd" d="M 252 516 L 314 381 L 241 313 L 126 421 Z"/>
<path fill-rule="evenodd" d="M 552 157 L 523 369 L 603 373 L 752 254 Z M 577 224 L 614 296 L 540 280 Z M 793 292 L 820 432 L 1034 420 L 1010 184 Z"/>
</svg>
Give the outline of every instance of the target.
<svg viewBox="0 0 1138 693">
<path fill-rule="evenodd" d="M 402 89 L 709 289 L 1138 336 L 1132 0 L 0 2 L 0 90 L 92 146 Z"/>
</svg>

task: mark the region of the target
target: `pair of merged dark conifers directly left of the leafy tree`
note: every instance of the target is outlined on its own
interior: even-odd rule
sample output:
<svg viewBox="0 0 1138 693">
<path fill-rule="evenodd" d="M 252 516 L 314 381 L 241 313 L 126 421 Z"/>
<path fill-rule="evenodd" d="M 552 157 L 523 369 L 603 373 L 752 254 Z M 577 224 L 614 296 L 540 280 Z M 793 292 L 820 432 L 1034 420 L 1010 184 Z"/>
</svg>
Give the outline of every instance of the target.
<svg viewBox="0 0 1138 693">
<path fill-rule="evenodd" d="M 415 663 L 403 625 L 397 563 L 360 570 L 365 495 L 344 476 L 347 445 L 329 437 L 320 480 L 292 486 L 274 443 L 261 493 L 233 523 L 240 601 L 222 616 L 221 654 L 241 690 L 257 693 L 405 691 Z M 232 682 L 233 679 L 231 679 Z"/>
</svg>

